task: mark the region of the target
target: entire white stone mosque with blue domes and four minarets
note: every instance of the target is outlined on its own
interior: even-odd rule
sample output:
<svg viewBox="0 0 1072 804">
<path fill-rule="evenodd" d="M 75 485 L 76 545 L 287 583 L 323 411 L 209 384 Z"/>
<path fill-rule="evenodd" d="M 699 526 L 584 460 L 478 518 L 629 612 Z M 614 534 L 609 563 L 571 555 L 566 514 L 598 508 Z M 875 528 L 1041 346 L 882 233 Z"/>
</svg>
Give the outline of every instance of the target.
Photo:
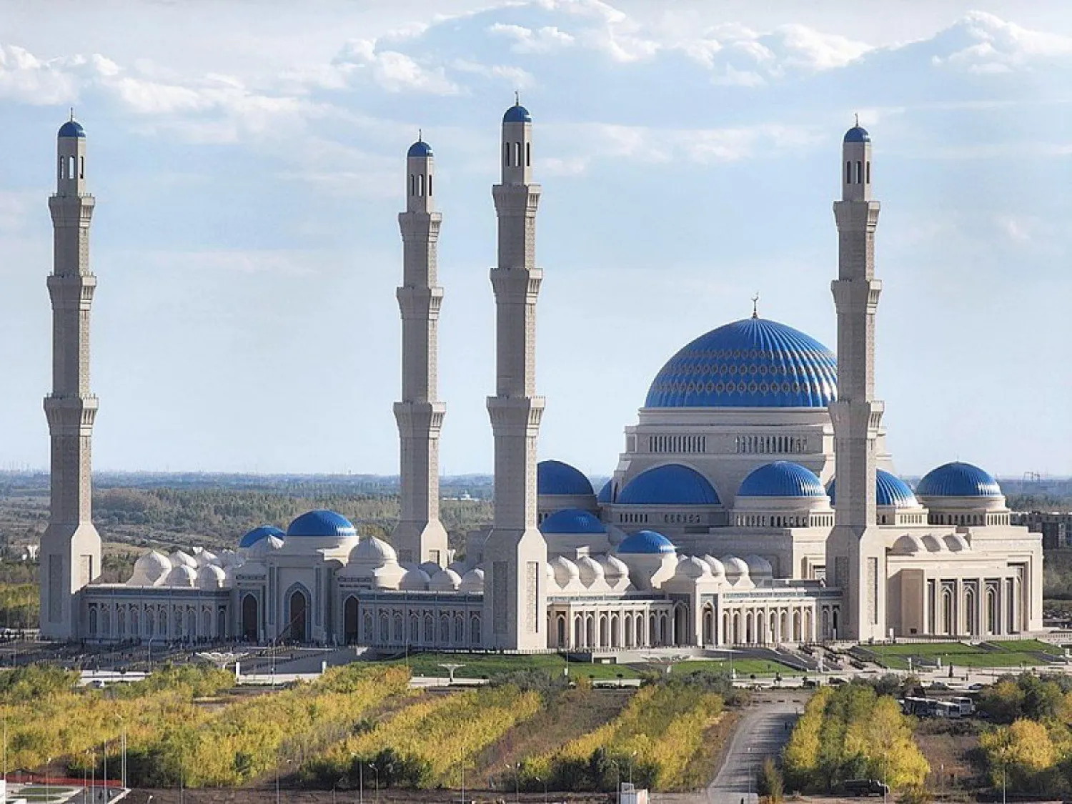
<svg viewBox="0 0 1072 804">
<path fill-rule="evenodd" d="M 986 638 L 1042 627 L 1042 544 L 1010 524 L 994 477 L 969 463 L 894 473 L 875 399 L 879 204 L 872 143 L 842 146 L 834 204 L 837 358 L 792 327 L 751 317 L 700 334 L 652 381 L 624 451 L 596 492 L 578 470 L 537 462 L 535 257 L 541 188 L 533 122 L 503 117 L 492 188 L 498 259 L 495 509 L 453 551 L 438 519 L 434 157 L 405 163 L 402 387 L 394 404 L 401 518 L 387 540 L 314 510 L 260 525 L 234 550 L 149 552 L 102 583 L 90 507 L 86 135 L 59 131 L 49 199 L 55 267 L 51 517 L 42 546 L 42 634 L 117 641 L 288 640 L 384 649 L 613 653 L 625 649 Z"/>
</svg>

